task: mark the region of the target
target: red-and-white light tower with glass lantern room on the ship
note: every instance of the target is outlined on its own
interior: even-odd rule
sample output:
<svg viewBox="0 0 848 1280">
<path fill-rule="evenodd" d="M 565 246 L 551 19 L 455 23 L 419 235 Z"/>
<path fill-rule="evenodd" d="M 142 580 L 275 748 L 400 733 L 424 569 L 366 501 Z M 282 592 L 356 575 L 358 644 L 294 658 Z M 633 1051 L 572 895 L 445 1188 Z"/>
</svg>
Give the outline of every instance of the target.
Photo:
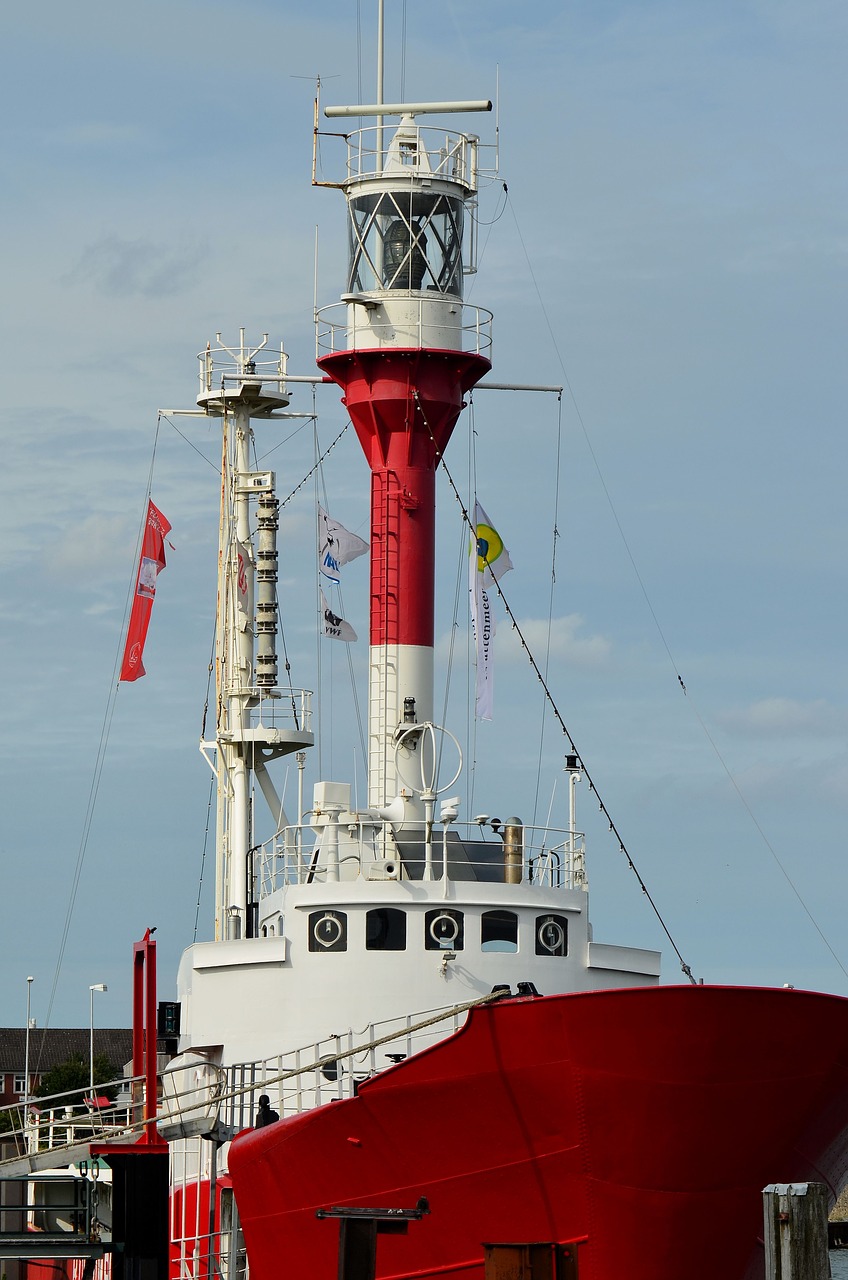
<svg viewBox="0 0 848 1280">
<path fill-rule="evenodd" d="M 378 116 L 347 134 L 350 261 L 341 303 L 319 314 L 319 366 L 342 388 L 371 470 L 369 805 L 406 787 L 397 739 L 433 718 L 436 468 L 462 397 L 489 370 L 491 314 L 462 302 L 478 140 L 427 128 L 430 113 L 491 102 L 328 108 Z M 383 150 L 383 120 L 400 124 Z M 343 312 L 338 315 L 338 307 Z M 334 316 L 338 315 L 338 320 Z M 412 805 L 412 810 L 415 805 Z M 409 817 L 414 817 L 406 809 Z"/>
</svg>

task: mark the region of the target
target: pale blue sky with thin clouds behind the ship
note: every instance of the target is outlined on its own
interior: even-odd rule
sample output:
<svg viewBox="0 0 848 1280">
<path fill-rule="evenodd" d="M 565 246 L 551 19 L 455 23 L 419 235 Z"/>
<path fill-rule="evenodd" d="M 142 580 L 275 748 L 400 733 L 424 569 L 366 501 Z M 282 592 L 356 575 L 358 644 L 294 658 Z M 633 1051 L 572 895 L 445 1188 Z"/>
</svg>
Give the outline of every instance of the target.
<svg viewBox="0 0 848 1280">
<path fill-rule="evenodd" d="M 23 1024 L 28 975 L 38 1025 L 86 1025 L 101 982 L 97 1020 L 124 1025 L 132 942 L 156 927 L 167 998 L 196 918 L 210 936 L 218 429 L 159 411 L 192 406 L 218 330 L 268 332 L 314 371 L 315 287 L 338 298 L 346 253 L 343 200 L 310 180 L 315 78 L 323 102 L 373 100 L 371 8 L 359 31 L 351 0 L 36 0 L 0 19 L 3 1025 Z M 848 995 L 848 13 L 387 10 L 387 99 L 498 99 L 466 297 L 494 314 L 493 380 L 565 392 L 479 390 L 447 463 L 505 538 L 503 590 L 559 712 L 697 977 Z M 487 143 L 494 125 L 466 122 Z M 338 159 L 322 138 L 322 172 Z M 311 407 L 298 389 L 292 410 Z M 345 426 L 332 389 L 318 413 L 316 433 L 257 425 L 281 498 Z M 147 676 L 106 733 L 151 466 L 173 550 Z M 351 431 L 320 486 L 281 526 L 292 681 L 322 730 L 310 781 L 361 769 L 347 649 L 311 639 L 315 499 L 368 532 Z M 444 477 L 438 503 L 442 690 L 468 620 Z M 361 561 L 343 594 L 360 707 L 366 602 Z M 567 746 L 500 614 L 491 724 L 451 668 L 462 815 L 564 826 Z M 661 947 L 678 980 L 585 785 L 578 822 L 596 938 Z"/>
</svg>

